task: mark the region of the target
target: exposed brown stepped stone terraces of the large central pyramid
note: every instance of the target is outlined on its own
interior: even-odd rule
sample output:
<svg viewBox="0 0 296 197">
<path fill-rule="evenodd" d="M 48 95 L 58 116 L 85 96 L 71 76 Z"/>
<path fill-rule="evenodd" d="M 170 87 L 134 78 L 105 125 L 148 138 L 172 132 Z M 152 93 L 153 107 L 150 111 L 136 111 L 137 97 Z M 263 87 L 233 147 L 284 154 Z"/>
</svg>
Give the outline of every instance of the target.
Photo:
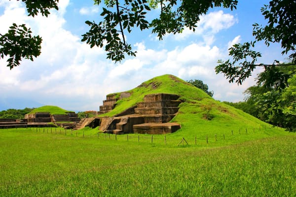
<svg viewBox="0 0 296 197">
<path fill-rule="evenodd" d="M 98 114 L 110 112 L 119 99 L 128 98 L 129 93 L 121 93 L 119 99 L 116 95 L 109 95 L 100 106 Z M 107 133 L 149 133 L 163 134 L 175 132 L 181 128 L 180 124 L 170 122 L 178 113 L 180 96 L 173 94 L 145 95 L 143 102 L 138 102 L 114 117 L 99 117 L 85 119 L 83 126 L 100 127 Z"/>
</svg>

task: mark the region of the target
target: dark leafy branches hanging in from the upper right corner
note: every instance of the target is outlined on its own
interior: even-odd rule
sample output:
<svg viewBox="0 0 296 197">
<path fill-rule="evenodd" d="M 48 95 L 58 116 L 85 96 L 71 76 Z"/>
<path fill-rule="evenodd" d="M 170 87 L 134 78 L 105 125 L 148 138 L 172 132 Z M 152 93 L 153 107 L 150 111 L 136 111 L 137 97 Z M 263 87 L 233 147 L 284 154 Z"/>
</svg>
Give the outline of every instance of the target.
<svg viewBox="0 0 296 197">
<path fill-rule="evenodd" d="M 268 21 L 265 27 L 259 24 L 253 25 L 255 41 L 243 44 L 234 44 L 229 48 L 229 56 L 232 60 L 218 61 L 216 73 L 223 73 L 229 83 L 242 82 L 248 78 L 257 66 L 263 66 L 264 72 L 260 74 L 259 82 L 265 87 L 276 86 L 276 89 L 285 89 L 288 79 L 295 73 L 293 67 L 296 63 L 296 1 L 295 0 L 271 0 L 268 5 L 261 8 L 262 15 Z M 291 64 L 279 65 L 277 60 L 272 65 L 257 64 L 260 52 L 253 50 L 258 41 L 280 43 L 283 49 L 282 54 L 290 54 Z M 284 73 L 279 66 L 293 67 L 289 73 Z"/>
</svg>

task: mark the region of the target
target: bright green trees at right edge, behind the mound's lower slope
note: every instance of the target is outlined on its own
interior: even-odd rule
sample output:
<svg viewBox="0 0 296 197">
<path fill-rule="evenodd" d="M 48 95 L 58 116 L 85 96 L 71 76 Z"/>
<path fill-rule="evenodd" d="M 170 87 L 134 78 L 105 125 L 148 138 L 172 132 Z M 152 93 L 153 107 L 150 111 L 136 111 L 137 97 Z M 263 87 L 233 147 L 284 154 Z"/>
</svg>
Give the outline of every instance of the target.
<svg viewBox="0 0 296 197">
<path fill-rule="evenodd" d="M 241 109 L 260 120 L 275 126 L 296 131 L 296 66 L 275 66 L 275 72 L 289 75 L 287 85 L 279 88 L 281 80 L 274 80 L 266 86 L 258 80 L 256 86 L 249 87 L 244 94 L 247 96 L 241 102 L 225 102 L 235 108 Z M 266 73 L 261 72 L 258 79 L 264 78 Z"/>
</svg>

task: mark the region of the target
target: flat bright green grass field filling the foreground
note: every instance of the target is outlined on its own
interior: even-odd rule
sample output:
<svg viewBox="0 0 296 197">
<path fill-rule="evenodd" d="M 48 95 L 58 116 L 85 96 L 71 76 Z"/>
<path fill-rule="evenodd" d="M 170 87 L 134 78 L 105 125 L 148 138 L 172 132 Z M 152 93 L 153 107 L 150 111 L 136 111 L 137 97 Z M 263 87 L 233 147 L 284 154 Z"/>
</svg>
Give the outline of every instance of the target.
<svg viewBox="0 0 296 197">
<path fill-rule="evenodd" d="M 0 130 L 0 196 L 295 196 L 295 133 L 216 130 L 196 144 L 185 131 L 151 143 L 91 129 Z M 189 145 L 177 146 L 183 137 Z"/>
</svg>

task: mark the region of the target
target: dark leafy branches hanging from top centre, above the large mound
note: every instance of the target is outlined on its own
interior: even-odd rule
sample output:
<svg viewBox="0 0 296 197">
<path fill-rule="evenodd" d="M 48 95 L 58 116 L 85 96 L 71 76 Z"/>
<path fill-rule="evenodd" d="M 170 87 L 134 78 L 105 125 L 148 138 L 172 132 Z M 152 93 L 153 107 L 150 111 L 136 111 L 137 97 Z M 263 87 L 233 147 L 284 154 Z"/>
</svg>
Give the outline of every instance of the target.
<svg viewBox="0 0 296 197">
<path fill-rule="evenodd" d="M 120 1 L 120 2 L 119 2 Z M 125 54 L 135 56 L 130 44 L 125 41 L 125 32 L 131 33 L 134 27 L 141 31 L 151 29 L 161 40 L 166 33 L 182 33 L 185 27 L 195 31 L 196 23 L 202 14 L 209 8 L 225 7 L 236 8 L 237 0 L 105 0 L 107 8 L 103 7 L 101 16 L 103 21 L 86 21 L 90 30 L 83 34 L 82 41 L 91 47 L 103 47 L 107 58 L 118 62 L 124 59 Z M 95 0 L 100 4 L 101 0 Z M 148 22 L 147 13 L 151 8 L 160 6 L 157 18 Z"/>
</svg>

